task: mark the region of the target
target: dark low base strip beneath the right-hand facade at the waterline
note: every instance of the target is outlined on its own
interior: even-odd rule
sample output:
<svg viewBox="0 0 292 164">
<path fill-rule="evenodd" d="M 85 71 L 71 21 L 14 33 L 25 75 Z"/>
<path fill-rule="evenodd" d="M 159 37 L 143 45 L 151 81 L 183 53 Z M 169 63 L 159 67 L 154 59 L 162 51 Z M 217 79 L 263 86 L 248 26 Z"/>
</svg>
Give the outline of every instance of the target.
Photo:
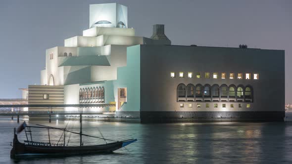
<svg viewBox="0 0 292 164">
<path fill-rule="evenodd" d="M 140 112 L 141 123 L 284 122 L 285 111 Z"/>
</svg>

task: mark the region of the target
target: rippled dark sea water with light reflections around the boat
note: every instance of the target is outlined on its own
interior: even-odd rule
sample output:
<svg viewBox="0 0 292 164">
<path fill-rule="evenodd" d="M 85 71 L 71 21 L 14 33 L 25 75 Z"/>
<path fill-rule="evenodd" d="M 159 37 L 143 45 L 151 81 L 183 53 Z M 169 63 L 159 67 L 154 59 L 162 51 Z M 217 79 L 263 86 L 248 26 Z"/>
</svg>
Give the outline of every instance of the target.
<svg viewBox="0 0 292 164">
<path fill-rule="evenodd" d="M 18 164 L 226 164 L 287 163 L 292 164 L 292 113 L 285 123 L 113 123 L 84 122 L 83 133 L 116 140 L 137 138 L 135 142 L 112 154 L 63 158 L 10 160 L 10 142 L 16 119 L 0 118 L 0 163 Z M 29 122 L 34 125 L 64 127 L 79 132 L 79 122 Z M 53 133 L 53 134 L 52 134 Z M 35 141 L 48 140 L 47 130 L 33 129 Z M 59 131 L 51 130 L 57 142 Z M 66 133 L 70 145 L 79 144 L 79 136 Z M 19 140 L 24 140 L 24 134 Z M 83 137 L 84 145 L 103 141 Z"/>
</svg>

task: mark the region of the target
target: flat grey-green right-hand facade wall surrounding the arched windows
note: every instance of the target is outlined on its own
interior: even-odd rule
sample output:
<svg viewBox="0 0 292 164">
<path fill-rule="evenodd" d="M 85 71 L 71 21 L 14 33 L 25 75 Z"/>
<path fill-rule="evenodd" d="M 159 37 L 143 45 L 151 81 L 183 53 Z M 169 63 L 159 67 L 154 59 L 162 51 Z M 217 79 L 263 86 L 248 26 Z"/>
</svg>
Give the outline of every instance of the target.
<svg viewBox="0 0 292 164">
<path fill-rule="evenodd" d="M 175 72 L 175 78 L 170 73 Z M 179 72 L 184 72 L 184 78 L 179 78 Z M 193 78 L 188 78 L 188 72 L 193 72 Z M 201 79 L 195 78 L 195 73 L 201 73 Z M 210 73 L 210 79 L 204 78 L 204 73 Z M 213 79 L 212 74 L 218 73 L 219 78 Z M 226 73 L 226 79 L 221 79 L 221 73 Z M 234 73 L 234 79 L 229 74 Z M 243 73 L 243 79 L 237 79 L 237 74 Z M 245 79 L 245 73 L 251 74 L 251 79 Z M 253 80 L 253 73 L 259 74 L 259 80 Z M 234 84 L 251 85 L 253 87 L 253 102 L 210 102 L 209 108 L 204 102 L 197 108 L 197 102 L 184 102 L 180 108 L 177 102 L 177 86 L 193 83 L 204 84 Z M 192 103 L 192 108 L 188 104 Z M 222 108 L 226 104 L 226 108 Z M 255 112 L 278 111 L 282 117 L 285 111 L 285 51 L 253 48 L 200 47 L 177 45 L 141 45 L 141 118 L 145 112 Z M 262 113 L 254 113 L 259 115 Z M 159 115 L 162 116 L 162 115 Z M 177 117 L 176 115 L 174 115 Z M 188 117 L 188 115 L 186 115 Z M 235 117 L 239 115 L 236 114 Z M 248 115 L 245 115 L 248 116 Z M 261 116 L 258 116 L 261 117 Z M 254 118 L 254 117 L 253 117 Z"/>
</svg>

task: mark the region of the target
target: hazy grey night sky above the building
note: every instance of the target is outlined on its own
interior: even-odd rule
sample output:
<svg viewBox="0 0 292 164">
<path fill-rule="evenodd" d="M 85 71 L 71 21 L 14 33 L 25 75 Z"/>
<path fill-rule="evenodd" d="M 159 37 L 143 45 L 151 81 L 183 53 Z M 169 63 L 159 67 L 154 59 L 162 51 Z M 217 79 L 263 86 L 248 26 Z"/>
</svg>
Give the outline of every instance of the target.
<svg viewBox="0 0 292 164">
<path fill-rule="evenodd" d="M 172 44 L 284 49 L 292 103 L 292 0 L 0 0 L 0 98 L 40 84 L 46 49 L 89 28 L 89 4 L 128 6 L 128 26 L 150 37 L 165 24 Z M 272 75 L 271 75 L 272 76 Z"/>
</svg>

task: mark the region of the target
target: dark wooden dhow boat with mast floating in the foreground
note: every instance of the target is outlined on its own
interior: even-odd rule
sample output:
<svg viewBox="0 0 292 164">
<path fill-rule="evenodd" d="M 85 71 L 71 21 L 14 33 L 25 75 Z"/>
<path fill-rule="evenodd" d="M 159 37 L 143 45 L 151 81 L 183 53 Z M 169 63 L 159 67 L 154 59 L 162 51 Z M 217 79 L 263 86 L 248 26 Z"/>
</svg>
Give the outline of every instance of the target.
<svg viewBox="0 0 292 164">
<path fill-rule="evenodd" d="M 115 150 L 118 150 L 122 147 L 125 147 L 135 141 L 137 139 L 128 139 L 123 141 L 115 141 L 111 139 L 105 139 L 101 137 L 91 136 L 80 133 L 69 131 L 66 128 L 56 128 L 51 126 L 44 126 L 37 124 L 38 126 L 27 126 L 26 123 L 22 123 L 22 125 L 16 130 L 14 128 L 14 138 L 13 144 L 10 143 L 13 147 L 10 152 L 10 158 L 19 158 L 19 157 L 30 157 L 30 156 L 70 156 L 70 155 L 87 155 L 87 154 L 97 154 L 97 153 L 110 153 Z M 50 137 L 49 142 L 35 142 L 32 140 L 32 131 L 31 127 L 34 128 L 45 128 L 48 129 L 56 129 L 63 130 L 62 136 L 64 136 L 63 143 L 51 143 Z M 25 129 L 26 139 L 24 143 L 18 141 L 17 134 L 20 133 L 23 129 Z M 65 133 L 70 132 L 74 134 L 80 135 L 80 146 L 66 146 L 65 144 Z M 62 137 L 61 136 L 61 137 Z M 106 144 L 102 145 L 93 145 L 93 146 L 84 146 L 82 143 L 82 136 L 88 136 L 93 138 L 102 139 L 106 142 Z M 61 138 L 60 137 L 60 138 Z M 60 140 L 59 140 L 60 141 Z M 107 143 L 110 141 L 110 143 Z"/>
</svg>

